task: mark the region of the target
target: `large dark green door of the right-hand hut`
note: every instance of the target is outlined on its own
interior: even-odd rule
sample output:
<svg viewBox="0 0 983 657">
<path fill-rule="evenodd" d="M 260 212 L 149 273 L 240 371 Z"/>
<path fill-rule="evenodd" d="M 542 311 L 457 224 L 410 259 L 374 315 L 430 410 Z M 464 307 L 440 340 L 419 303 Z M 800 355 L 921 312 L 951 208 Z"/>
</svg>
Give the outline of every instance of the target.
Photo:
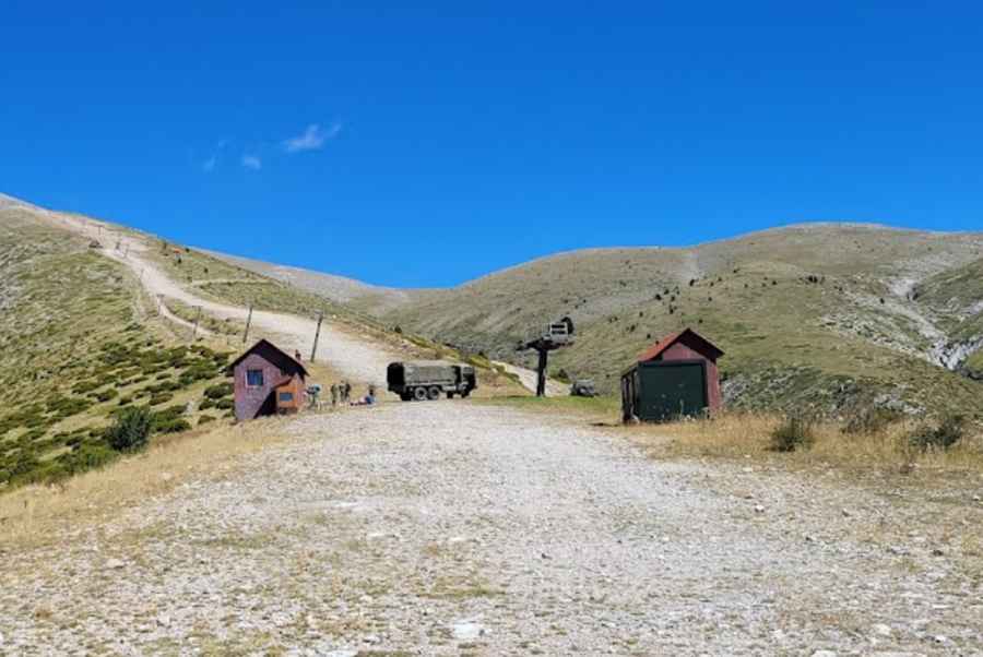
<svg viewBox="0 0 983 657">
<path fill-rule="evenodd" d="M 642 362 L 638 366 L 638 417 L 661 421 L 707 408 L 707 370 L 702 361 Z"/>
</svg>

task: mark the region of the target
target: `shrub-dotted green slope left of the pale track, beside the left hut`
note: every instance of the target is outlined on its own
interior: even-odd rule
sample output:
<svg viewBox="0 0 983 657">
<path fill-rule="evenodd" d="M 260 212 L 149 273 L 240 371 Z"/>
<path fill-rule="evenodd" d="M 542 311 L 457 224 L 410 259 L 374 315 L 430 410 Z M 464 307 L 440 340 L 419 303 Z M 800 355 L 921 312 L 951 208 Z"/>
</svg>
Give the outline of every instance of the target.
<svg viewBox="0 0 983 657">
<path fill-rule="evenodd" d="M 228 354 L 187 345 L 138 289 L 86 240 L 0 205 L 0 491 L 111 461 L 105 429 L 131 406 L 158 433 L 227 416 Z"/>
</svg>

